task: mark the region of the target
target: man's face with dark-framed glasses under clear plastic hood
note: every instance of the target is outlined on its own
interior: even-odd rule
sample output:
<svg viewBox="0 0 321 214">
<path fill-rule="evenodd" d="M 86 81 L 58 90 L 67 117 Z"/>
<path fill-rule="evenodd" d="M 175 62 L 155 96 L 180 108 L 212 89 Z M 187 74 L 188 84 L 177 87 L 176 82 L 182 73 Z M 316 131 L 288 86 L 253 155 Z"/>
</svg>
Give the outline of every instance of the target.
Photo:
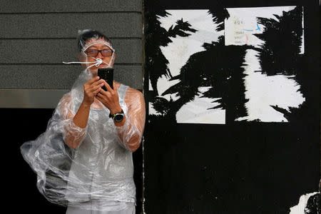
<svg viewBox="0 0 321 214">
<path fill-rule="evenodd" d="M 110 47 L 103 43 L 106 43 L 106 41 L 103 39 L 90 39 L 86 41 L 84 54 L 79 55 L 79 60 L 81 62 L 93 63 L 82 63 L 81 65 L 83 68 L 88 68 L 91 66 L 89 70 L 92 73 L 97 73 L 98 68 L 106 68 L 108 64 L 113 67 L 113 61 L 115 60 L 116 55 L 113 53 L 113 50 Z M 92 66 L 97 62 L 96 58 L 101 58 L 101 60 L 105 63 L 101 63 L 98 67 Z"/>
</svg>

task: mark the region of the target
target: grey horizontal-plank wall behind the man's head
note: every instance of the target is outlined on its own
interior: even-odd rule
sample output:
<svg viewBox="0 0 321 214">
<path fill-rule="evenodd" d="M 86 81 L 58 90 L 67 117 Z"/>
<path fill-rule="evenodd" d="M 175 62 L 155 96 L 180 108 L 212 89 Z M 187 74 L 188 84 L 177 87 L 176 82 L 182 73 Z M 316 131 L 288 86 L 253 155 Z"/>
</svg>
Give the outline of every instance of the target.
<svg viewBox="0 0 321 214">
<path fill-rule="evenodd" d="M 0 0 L 0 108 L 55 108 L 81 72 L 78 29 L 116 49 L 115 79 L 143 88 L 141 0 Z"/>
</svg>

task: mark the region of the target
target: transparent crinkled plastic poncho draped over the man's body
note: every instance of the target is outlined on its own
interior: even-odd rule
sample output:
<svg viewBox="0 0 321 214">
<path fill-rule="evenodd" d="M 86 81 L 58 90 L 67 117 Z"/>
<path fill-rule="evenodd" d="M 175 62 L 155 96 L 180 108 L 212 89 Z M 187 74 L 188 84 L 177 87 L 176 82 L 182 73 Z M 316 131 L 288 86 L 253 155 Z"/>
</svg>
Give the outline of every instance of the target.
<svg viewBox="0 0 321 214">
<path fill-rule="evenodd" d="M 121 209 L 121 204 L 125 208 L 126 203 L 136 203 L 132 152 L 141 143 L 145 103 L 141 92 L 115 83 L 124 125 L 116 126 L 101 103 L 91 106 L 87 126 L 80 128 L 73 116 L 83 101 L 83 84 L 91 78 L 88 69 L 81 72 L 58 102 L 46 131 L 24 143 L 21 153 L 37 174 L 37 188 L 51 203 L 88 210 L 113 210 L 113 205 Z M 67 146 L 76 141 L 80 142 L 76 148 Z"/>
</svg>

